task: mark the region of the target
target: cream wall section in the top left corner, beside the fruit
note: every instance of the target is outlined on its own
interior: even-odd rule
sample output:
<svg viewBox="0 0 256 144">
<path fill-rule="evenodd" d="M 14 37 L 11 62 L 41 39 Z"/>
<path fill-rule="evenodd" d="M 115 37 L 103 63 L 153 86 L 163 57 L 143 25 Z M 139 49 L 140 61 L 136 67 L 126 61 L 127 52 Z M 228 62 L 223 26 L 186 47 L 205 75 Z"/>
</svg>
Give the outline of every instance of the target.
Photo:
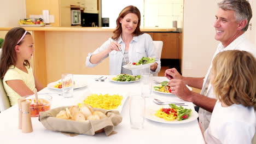
<svg viewBox="0 0 256 144">
<path fill-rule="evenodd" d="M 0 27 L 16 27 L 26 18 L 25 0 L 0 0 Z"/>
</svg>

